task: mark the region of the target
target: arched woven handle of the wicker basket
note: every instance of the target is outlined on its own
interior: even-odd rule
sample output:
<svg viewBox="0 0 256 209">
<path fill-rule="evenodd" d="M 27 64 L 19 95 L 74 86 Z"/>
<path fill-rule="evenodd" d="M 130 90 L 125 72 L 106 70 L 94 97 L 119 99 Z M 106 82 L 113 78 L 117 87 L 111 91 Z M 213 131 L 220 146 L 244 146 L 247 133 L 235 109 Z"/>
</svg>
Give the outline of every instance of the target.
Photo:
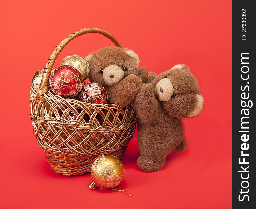
<svg viewBox="0 0 256 209">
<path fill-rule="evenodd" d="M 37 89 L 37 100 L 40 99 L 43 103 L 45 102 L 45 100 L 41 97 L 44 93 L 46 93 L 49 88 L 48 88 L 48 84 L 49 84 L 49 78 L 51 75 L 51 70 L 53 67 L 53 64 L 55 62 L 55 60 L 57 59 L 58 55 L 60 54 L 61 50 L 74 38 L 81 36 L 85 33 L 99 33 L 102 34 L 103 36 L 107 37 L 108 39 L 110 39 L 116 46 L 118 47 L 122 47 L 120 42 L 114 37 L 112 36 L 110 33 L 99 29 L 99 28 L 84 28 L 78 31 L 75 31 L 74 33 L 69 34 L 65 39 L 63 39 L 53 50 L 53 52 L 51 53 L 50 57 L 48 58 L 45 67 L 44 67 L 44 73 L 41 79 L 41 84 L 40 84 L 40 88 Z"/>
</svg>

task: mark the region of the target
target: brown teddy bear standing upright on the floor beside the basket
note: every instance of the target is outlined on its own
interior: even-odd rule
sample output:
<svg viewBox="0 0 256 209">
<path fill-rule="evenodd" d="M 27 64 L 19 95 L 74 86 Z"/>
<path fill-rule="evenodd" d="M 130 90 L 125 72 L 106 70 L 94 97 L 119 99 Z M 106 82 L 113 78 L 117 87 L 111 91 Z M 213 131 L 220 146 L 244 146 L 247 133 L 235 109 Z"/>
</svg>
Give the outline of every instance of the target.
<svg viewBox="0 0 256 209">
<path fill-rule="evenodd" d="M 182 118 L 198 115 L 204 99 L 186 65 L 175 65 L 152 83 L 141 84 L 134 99 L 138 117 L 138 167 L 145 172 L 163 168 L 166 157 L 187 147 Z"/>
</svg>

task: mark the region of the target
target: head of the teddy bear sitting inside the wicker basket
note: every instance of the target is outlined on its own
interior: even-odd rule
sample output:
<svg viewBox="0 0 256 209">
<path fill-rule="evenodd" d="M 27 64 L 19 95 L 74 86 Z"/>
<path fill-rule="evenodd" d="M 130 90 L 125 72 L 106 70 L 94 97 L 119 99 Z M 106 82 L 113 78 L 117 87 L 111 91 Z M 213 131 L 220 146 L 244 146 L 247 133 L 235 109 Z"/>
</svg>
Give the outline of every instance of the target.
<svg viewBox="0 0 256 209">
<path fill-rule="evenodd" d="M 103 86 L 112 86 L 130 74 L 138 75 L 139 57 L 129 49 L 101 48 L 85 57 L 90 65 L 89 78 Z"/>
</svg>

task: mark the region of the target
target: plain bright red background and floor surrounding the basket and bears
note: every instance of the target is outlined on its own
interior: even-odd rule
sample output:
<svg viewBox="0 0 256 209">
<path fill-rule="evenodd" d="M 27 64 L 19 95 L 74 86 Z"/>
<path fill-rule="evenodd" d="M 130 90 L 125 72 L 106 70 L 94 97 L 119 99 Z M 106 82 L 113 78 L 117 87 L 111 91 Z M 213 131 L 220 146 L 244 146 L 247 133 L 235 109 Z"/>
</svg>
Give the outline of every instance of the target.
<svg viewBox="0 0 256 209">
<path fill-rule="evenodd" d="M 5 1 L 1 33 L 0 208 L 231 208 L 231 1 Z M 187 119 L 188 149 L 165 167 L 144 173 L 136 165 L 137 134 L 122 162 L 119 186 L 132 194 L 90 191 L 90 174 L 54 173 L 33 137 L 29 87 L 51 51 L 69 33 L 97 27 L 160 73 L 186 63 L 205 98 Z M 78 37 L 69 54 L 86 56 L 112 43 L 98 34 Z"/>
</svg>

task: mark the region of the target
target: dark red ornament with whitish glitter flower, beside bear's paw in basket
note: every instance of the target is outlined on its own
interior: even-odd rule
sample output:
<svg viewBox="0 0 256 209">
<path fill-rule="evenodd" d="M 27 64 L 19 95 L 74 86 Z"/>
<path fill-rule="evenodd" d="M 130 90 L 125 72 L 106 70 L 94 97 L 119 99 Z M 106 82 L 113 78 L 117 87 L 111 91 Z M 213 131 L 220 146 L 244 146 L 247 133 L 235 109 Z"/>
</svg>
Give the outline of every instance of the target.
<svg viewBox="0 0 256 209">
<path fill-rule="evenodd" d="M 81 92 L 78 93 L 77 100 L 91 104 L 106 104 L 107 92 L 98 83 L 86 83 L 83 85 Z"/>
</svg>

